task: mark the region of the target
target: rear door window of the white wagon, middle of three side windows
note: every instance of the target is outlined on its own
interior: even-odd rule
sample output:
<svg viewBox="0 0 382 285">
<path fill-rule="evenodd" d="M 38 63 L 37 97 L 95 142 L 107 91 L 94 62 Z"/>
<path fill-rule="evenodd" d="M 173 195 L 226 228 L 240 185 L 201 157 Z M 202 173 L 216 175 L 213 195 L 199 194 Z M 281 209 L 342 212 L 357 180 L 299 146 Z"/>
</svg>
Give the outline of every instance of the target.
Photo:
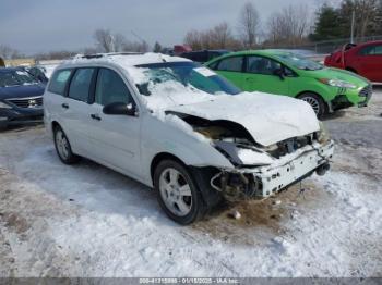
<svg viewBox="0 0 382 285">
<path fill-rule="evenodd" d="M 79 69 L 70 83 L 69 97 L 87 102 L 91 91 L 94 69 Z"/>
</svg>

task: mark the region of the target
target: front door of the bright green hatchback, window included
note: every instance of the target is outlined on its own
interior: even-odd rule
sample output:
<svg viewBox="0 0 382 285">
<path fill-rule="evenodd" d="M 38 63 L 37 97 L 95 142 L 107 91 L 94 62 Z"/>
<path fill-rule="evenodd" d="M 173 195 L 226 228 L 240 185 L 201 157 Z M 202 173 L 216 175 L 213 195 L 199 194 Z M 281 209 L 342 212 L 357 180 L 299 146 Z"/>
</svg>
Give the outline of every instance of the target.
<svg viewBox="0 0 382 285">
<path fill-rule="evenodd" d="M 277 95 L 289 95 L 289 80 L 276 75 L 277 70 L 284 66 L 272 59 L 260 55 L 246 57 L 244 90 L 262 91 Z"/>
</svg>

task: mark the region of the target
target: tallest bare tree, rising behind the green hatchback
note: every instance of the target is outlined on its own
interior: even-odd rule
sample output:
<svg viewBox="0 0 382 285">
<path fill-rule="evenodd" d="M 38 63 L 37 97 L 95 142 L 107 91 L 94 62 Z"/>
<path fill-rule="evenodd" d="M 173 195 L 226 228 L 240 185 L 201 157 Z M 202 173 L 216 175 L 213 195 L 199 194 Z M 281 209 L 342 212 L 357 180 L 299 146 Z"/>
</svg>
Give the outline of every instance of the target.
<svg viewBox="0 0 382 285">
<path fill-rule="evenodd" d="M 238 29 L 244 47 L 255 46 L 260 34 L 260 17 L 251 2 L 247 2 L 241 9 Z"/>
</svg>

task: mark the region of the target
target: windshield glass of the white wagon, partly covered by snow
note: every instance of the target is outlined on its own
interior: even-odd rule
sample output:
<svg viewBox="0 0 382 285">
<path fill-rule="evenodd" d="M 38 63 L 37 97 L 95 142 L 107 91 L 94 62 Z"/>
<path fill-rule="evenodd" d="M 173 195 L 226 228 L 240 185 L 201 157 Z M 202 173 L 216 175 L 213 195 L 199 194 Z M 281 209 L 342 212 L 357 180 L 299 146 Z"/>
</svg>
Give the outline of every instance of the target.
<svg viewBox="0 0 382 285">
<path fill-rule="evenodd" d="M 145 96 L 151 95 L 148 84 L 156 85 L 170 80 L 212 95 L 240 92 L 240 89 L 225 78 L 195 62 L 164 62 L 142 64 L 136 67 L 146 69 L 147 82 L 138 85 L 140 92 Z"/>
</svg>

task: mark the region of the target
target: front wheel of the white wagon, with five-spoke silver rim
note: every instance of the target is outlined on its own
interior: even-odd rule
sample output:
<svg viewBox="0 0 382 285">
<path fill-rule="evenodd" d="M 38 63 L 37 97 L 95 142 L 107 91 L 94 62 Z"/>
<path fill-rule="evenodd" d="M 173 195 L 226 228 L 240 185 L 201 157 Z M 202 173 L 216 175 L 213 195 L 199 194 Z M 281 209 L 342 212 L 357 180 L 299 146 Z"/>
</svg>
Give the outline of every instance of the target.
<svg viewBox="0 0 382 285">
<path fill-rule="evenodd" d="M 191 173 L 175 160 L 164 160 L 156 166 L 154 188 L 164 212 L 181 225 L 196 222 L 207 212 Z"/>
</svg>

